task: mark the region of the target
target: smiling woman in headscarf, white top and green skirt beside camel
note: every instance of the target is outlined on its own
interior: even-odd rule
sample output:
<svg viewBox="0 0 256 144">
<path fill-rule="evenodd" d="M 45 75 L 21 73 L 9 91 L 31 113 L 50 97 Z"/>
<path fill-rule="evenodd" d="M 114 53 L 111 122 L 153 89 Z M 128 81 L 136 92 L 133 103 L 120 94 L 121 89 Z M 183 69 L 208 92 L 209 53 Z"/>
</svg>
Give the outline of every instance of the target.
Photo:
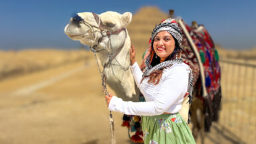
<svg viewBox="0 0 256 144">
<path fill-rule="evenodd" d="M 192 72 L 180 58 L 181 42 L 182 33 L 176 21 L 167 19 L 157 25 L 152 32 L 144 73 L 131 48 L 132 74 L 146 102 L 124 102 L 116 96 L 105 96 L 108 109 L 142 115 L 145 144 L 195 143 L 188 124 L 178 113 L 184 95 L 192 90 Z"/>
</svg>

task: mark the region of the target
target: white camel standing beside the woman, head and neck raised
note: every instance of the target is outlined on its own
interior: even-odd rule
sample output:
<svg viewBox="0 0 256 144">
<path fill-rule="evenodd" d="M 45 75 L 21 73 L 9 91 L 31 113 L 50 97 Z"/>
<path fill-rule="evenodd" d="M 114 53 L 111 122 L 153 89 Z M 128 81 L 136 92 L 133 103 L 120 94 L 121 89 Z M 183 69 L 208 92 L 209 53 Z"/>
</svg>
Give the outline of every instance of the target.
<svg viewBox="0 0 256 144">
<path fill-rule="evenodd" d="M 106 83 L 123 100 L 138 102 L 139 90 L 130 71 L 130 36 L 126 27 L 132 21 L 132 13 L 107 11 L 77 13 L 70 19 L 64 32 L 72 40 L 80 40 L 97 52 L 104 67 Z M 188 121 L 188 97 L 184 98 L 180 113 Z"/>
</svg>

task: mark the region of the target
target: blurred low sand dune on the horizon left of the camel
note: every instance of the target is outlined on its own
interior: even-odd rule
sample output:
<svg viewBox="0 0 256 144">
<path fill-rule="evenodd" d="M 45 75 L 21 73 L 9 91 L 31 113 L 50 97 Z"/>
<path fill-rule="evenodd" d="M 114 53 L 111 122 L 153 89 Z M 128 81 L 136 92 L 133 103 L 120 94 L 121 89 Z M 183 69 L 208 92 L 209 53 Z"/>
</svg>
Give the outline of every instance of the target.
<svg viewBox="0 0 256 144">
<path fill-rule="evenodd" d="M 86 60 L 92 54 L 86 50 L 29 49 L 0 51 L 0 80 L 78 60 Z"/>
</svg>

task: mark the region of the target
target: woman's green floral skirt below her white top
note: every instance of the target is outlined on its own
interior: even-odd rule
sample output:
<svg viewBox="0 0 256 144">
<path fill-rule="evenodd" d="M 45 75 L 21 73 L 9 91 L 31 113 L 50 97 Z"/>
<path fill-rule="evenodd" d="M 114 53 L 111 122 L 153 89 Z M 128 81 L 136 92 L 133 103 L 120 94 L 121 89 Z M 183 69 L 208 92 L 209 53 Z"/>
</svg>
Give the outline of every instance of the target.
<svg viewBox="0 0 256 144">
<path fill-rule="evenodd" d="M 144 144 L 195 143 L 180 113 L 142 116 Z"/>
</svg>

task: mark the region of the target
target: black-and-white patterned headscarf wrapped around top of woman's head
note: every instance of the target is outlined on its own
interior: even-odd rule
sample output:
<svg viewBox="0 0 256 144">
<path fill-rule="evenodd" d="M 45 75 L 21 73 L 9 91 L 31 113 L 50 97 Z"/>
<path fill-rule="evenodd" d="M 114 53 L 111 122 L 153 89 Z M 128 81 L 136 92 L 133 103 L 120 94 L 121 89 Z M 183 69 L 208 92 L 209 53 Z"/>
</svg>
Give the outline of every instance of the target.
<svg viewBox="0 0 256 144">
<path fill-rule="evenodd" d="M 180 27 L 178 23 L 174 19 L 166 19 L 159 25 L 156 25 L 156 28 L 152 31 L 151 40 L 154 41 L 155 36 L 160 31 L 168 31 L 174 38 L 178 41 L 178 43 L 182 44 L 182 32 L 180 31 Z"/>
</svg>

